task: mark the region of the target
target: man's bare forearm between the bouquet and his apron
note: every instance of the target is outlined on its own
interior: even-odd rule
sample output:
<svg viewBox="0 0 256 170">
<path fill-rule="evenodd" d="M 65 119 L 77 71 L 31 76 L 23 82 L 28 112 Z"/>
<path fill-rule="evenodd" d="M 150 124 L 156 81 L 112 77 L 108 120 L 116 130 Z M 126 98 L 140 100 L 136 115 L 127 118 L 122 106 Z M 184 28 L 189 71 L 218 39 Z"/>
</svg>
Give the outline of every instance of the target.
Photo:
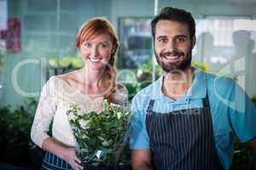
<svg viewBox="0 0 256 170">
<path fill-rule="evenodd" d="M 133 170 L 153 170 L 150 150 L 131 150 Z"/>
</svg>

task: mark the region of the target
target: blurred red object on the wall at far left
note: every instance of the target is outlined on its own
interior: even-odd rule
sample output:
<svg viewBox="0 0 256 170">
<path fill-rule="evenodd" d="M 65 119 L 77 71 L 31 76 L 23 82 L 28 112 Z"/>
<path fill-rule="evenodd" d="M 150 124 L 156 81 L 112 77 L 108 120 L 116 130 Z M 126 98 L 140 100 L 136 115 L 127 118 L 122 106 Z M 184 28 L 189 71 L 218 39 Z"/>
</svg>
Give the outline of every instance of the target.
<svg viewBox="0 0 256 170">
<path fill-rule="evenodd" d="M 8 30 L 0 32 L 1 39 L 6 41 L 8 53 L 20 53 L 20 20 L 17 18 L 8 20 Z"/>
</svg>

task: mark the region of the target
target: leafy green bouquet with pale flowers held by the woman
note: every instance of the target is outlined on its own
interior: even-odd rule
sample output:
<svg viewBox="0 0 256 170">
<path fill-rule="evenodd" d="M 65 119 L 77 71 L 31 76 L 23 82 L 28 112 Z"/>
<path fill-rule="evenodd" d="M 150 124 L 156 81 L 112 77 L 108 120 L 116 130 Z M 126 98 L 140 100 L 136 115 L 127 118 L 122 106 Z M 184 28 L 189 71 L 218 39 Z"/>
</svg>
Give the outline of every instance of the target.
<svg viewBox="0 0 256 170">
<path fill-rule="evenodd" d="M 67 116 L 83 162 L 93 165 L 127 162 L 129 111 L 105 99 L 100 113 L 84 113 L 79 105 L 71 105 Z"/>
</svg>

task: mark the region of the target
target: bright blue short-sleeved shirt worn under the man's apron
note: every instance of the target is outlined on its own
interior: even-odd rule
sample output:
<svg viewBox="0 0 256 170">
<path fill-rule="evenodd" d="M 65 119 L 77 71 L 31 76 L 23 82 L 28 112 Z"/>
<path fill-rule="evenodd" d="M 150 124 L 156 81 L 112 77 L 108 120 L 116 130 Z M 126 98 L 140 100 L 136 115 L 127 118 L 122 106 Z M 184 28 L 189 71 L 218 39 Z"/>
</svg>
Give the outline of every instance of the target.
<svg viewBox="0 0 256 170">
<path fill-rule="evenodd" d="M 165 96 L 161 90 L 162 82 L 163 76 L 141 90 L 132 100 L 131 150 L 149 149 L 145 119 L 150 99 L 155 100 L 153 111 L 166 113 L 201 108 L 202 99 L 208 94 L 218 157 L 224 169 L 229 169 L 234 137 L 237 136 L 241 142 L 256 137 L 256 108 L 251 99 L 232 79 L 216 77 L 199 69 L 195 69 L 192 86 L 180 99 Z"/>
</svg>

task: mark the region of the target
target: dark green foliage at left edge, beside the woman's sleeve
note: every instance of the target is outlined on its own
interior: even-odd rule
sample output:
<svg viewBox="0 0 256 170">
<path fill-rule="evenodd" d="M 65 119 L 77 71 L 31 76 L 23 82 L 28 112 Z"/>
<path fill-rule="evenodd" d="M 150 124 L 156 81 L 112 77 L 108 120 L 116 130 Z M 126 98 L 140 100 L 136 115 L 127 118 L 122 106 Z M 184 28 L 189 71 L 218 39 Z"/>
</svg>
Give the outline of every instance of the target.
<svg viewBox="0 0 256 170">
<path fill-rule="evenodd" d="M 24 106 L 12 111 L 0 109 L 0 160 L 16 164 L 28 162 L 30 129 L 37 102 L 27 99 Z"/>
</svg>

